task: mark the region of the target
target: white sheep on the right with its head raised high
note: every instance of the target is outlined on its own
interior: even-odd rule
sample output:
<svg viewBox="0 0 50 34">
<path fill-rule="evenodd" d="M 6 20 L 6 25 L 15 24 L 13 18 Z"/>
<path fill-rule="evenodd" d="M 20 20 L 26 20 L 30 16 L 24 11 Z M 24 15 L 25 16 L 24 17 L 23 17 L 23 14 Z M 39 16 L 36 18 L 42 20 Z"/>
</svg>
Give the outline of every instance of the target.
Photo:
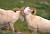
<svg viewBox="0 0 50 34">
<path fill-rule="evenodd" d="M 33 30 L 32 34 L 38 34 L 39 32 L 50 33 L 50 20 L 44 19 L 40 16 L 32 15 L 33 10 L 36 14 L 36 9 L 31 7 L 26 7 L 24 10 L 25 18 L 28 24 L 29 29 Z"/>
</svg>

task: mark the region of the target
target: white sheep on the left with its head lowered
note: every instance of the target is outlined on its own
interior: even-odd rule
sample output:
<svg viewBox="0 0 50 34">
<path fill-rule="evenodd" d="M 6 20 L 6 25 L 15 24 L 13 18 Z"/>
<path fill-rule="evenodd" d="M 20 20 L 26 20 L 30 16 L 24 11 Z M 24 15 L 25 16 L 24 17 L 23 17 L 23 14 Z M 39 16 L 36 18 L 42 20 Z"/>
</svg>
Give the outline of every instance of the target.
<svg viewBox="0 0 50 34">
<path fill-rule="evenodd" d="M 10 25 L 11 29 L 14 32 L 14 23 L 18 20 L 21 19 L 22 21 L 24 21 L 24 17 L 22 16 L 22 12 L 19 8 L 16 8 L 16 13 L 13 11 L 9 11 L 9 10 L 4 10 L 4 9 L 0 9 L 0 25 Z"/>
</svg>

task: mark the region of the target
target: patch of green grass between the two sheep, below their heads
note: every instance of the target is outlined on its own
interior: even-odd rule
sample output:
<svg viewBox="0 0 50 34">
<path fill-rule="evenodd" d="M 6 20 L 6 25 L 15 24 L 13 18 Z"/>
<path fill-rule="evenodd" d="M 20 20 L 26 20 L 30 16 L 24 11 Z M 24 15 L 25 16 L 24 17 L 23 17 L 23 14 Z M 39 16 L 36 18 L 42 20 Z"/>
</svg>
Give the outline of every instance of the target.
<svg viewBox="0 0 50 34">
<path fill-rule="evenodd" d="M 23 22 L 21 20 L 18 20 L 14 25 L 19 28 L 18 31 L 26 31 L 28 29 L 26 20 L 24 20 Z"/>
</svg>

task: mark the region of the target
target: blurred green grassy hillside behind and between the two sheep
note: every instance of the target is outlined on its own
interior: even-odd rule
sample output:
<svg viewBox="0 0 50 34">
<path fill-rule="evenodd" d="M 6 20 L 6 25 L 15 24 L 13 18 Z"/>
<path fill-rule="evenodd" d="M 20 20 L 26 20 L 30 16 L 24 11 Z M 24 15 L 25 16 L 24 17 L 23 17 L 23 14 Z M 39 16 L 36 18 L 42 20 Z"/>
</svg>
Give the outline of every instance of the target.
<svg viewBox="0 0 50 34">
<path fill-rule="evenodd" d="M 50 20 L 50 0 L 0 0 L 0 8 L 5 10 L 26 6 L 36 8 L 36 15 Z M 18 27 L 18 31 L 28 30 L 26 21 L 22 22 L 21 20 L 18 20 L 17 22 L 15 25 Z"/>
</svg>

